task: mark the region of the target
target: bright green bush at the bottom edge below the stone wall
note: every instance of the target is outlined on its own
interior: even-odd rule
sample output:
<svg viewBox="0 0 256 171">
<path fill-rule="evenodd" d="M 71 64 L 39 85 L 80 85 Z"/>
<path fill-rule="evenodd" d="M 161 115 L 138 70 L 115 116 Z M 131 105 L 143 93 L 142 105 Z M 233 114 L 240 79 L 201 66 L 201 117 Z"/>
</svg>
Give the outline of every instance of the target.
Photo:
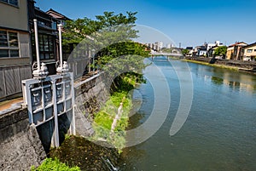
<svg viewBox="0 0 256 171">
<path fill-rule="evenodd" d="M 70 168 L 57 158 L 46 158 L 38 168 L 32 166 L 31 171 L 80 171 L 80 168 L 77 166 Z"/>
</svg>

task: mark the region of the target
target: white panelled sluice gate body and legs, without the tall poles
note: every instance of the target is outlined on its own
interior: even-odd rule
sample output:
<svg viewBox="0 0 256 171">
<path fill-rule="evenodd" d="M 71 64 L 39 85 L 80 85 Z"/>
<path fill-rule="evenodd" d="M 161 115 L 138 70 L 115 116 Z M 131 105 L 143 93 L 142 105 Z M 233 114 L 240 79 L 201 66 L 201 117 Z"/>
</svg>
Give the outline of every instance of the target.
<svg viewBox="0 0 256 171">
<path fill-rule="evenodd" d="M 67 114 L 71 134 L 75 134 L 73 72 L 23 80 L 22 92 L 31 124 L 37 127 L 55 120 L 55 146 L 60 145 L 58 116 Z"/>
</svg>

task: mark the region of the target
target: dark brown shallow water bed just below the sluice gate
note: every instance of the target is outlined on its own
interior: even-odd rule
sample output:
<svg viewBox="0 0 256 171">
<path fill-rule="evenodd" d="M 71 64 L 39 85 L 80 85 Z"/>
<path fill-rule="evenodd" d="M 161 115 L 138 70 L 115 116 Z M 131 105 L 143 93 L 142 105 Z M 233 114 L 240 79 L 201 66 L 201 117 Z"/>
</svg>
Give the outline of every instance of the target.
<svg viewBox="0 0 256 171">
<path fill-rule="evenodd" d="M 91 142 L 81 136 L 71 135 L 65 139 L 61 147 L 53 148 L 50 157 L 57 157 L 70 166 L 78 166 L 81 170 L 110 170 L 119 163 L 119 153 L 116 149 L 107 148 Z"/>
</svg>

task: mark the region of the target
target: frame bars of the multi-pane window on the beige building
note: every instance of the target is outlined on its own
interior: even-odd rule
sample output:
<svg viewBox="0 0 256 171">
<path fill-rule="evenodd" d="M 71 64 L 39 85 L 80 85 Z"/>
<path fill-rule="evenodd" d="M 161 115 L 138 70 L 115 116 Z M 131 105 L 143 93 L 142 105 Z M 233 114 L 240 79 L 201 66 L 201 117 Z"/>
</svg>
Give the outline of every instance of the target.
<svg viewBox="0 0 256 171">
<path fill-rule="evenodd" d="M 4 56 L 1 57 L 0 59 L 9 59 L 9 58 L 20 58 L 20 35 L 18 31 L 8 31 L 8 30 L 2 30 L 0 29 L 0 31 L 5 31 L 6 32 L 6 41 L 7 41 L 7 46 L 0 46 L 0 50 L 7 50 L 8 51 L 8 56 Z M 11 46 L 11 42 L 10 42 L 10 33 L 15 33 L 17 36 L 17 46 L 13 47 Z M 15 52 L 16 51 L 16 52 Z M 17 53 L 18 51 L 18 53 Z M 12 54 L 15 52 L 15 54 L 18 54 L 18 56 L 12 56 Z"/>
</svg>

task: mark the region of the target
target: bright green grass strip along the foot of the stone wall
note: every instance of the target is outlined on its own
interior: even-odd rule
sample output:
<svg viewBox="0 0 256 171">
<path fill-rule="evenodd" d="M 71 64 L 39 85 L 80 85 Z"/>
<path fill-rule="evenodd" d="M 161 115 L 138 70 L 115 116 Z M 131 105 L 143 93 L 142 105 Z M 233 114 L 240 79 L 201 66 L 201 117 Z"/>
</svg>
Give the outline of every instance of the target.
<svg viewBox="0 0 256 171">
<path fill-rule="evenodd" d="M 113 145 L 119 152 L 125 147 L 125 128 L 128 126 L 129 113 L 132 107 L 131 89 L 135 88 L 137 83 L 142 83 L 141 76 L 125 75 L 120 77 L 118 86 L 116 86 L 110 99 L 102 107 L 102 110 L 95 113 L 93 128 L 95 134 L 92 140 L 106 140 Z M 111 126 L 118 113 L 120 103 L 123 104 L 122 113 L 117 120 L 117 124 L 111 132 Z"/>
</svg>

